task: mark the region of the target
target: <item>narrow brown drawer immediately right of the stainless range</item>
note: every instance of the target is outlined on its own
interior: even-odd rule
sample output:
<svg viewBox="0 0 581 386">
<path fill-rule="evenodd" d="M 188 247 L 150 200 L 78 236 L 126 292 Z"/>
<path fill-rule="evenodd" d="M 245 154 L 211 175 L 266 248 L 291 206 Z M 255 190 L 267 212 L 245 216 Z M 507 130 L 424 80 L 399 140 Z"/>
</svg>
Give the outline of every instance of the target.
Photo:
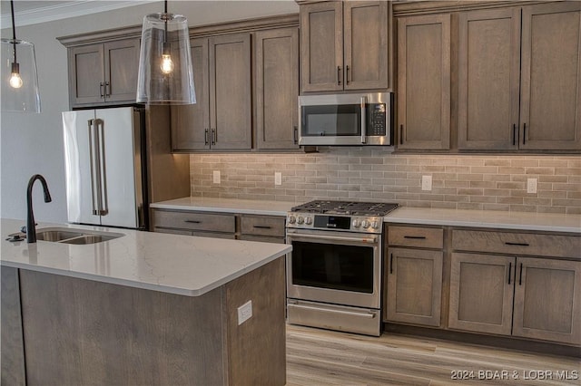
<svg viewBox="0 0 581 386">
<path fill-rule="evenodd" d="M 390 246 L 441 249 L 444 247 L 444 229 L 388 226 L 388 240 Z"/>
</svg>

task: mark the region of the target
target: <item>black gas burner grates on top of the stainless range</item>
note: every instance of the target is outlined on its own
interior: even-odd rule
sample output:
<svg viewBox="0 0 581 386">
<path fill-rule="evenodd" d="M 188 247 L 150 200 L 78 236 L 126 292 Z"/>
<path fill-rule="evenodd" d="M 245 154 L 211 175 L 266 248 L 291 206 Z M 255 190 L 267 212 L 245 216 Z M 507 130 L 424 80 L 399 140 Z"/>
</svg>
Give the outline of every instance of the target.
<svg viewBox="0 0 581 386">
<path fill-rule="evenodd" d="M 297 207 L 292 207 L 291 211 L 350 216 L 385 216 L 396 207 L 399 207 L 399 205 L 395 203 L 328 201 L 318 199 L 299 205 Z"/>
</svg>

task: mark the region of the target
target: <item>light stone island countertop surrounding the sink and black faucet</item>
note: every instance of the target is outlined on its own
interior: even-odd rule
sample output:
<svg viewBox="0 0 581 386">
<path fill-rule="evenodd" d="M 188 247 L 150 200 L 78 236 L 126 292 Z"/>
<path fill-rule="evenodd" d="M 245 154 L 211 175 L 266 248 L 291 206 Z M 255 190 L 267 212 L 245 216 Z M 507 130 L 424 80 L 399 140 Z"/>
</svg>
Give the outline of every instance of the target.
<svg viewBox="0 0 581 386">
<path fill-rule="evenodd" d="M 199 296 L 291 251 L 284 244 L 178 236 L 130 229 L 39 223 L 124 236 L 77 246 L 9 242 L 25 220 L 2 219 L 2 265 L 115 285 Z"/>
</svg>

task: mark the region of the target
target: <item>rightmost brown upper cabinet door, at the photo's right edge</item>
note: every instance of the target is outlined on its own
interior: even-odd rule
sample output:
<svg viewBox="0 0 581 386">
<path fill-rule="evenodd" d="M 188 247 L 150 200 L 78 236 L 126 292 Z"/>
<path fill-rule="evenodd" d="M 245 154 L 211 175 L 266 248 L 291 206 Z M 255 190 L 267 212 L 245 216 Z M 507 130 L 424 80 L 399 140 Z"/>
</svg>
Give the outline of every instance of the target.
<svg viewBox="0 0 581 386">
<path fill-rule="evenodd" d="M 520 148 L 581 150 L 581 3 L 523 7 Z"/>
</svg>

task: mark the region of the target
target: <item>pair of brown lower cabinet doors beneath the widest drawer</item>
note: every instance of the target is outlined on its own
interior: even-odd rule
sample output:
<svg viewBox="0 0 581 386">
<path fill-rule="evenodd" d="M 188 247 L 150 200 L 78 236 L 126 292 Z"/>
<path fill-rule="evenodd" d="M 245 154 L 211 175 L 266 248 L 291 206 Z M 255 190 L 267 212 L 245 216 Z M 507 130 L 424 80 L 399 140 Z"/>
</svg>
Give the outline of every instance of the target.
<svg viewBox="0 0 581 386">
<path fill-rule="evenodd" d="M 453 253 L 448 327 L 581 343 L 581 261 Z"/>
</svg>

